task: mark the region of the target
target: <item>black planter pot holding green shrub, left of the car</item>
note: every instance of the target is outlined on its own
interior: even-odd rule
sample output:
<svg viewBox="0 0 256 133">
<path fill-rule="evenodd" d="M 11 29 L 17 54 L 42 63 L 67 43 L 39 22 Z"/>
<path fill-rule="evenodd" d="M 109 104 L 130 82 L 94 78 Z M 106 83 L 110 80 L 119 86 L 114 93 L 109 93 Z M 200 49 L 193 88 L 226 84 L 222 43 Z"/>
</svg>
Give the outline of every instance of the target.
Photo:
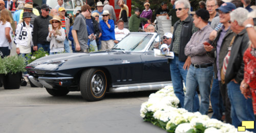
<svg viewBox="0 0 256 133">
<path fill-rule="evenodd" d="M 22 72 L 15 74 L 8 73 L 4 75 L 2 80 L 5 89 L 18 89 L 22 81 Z"/>
</svg>

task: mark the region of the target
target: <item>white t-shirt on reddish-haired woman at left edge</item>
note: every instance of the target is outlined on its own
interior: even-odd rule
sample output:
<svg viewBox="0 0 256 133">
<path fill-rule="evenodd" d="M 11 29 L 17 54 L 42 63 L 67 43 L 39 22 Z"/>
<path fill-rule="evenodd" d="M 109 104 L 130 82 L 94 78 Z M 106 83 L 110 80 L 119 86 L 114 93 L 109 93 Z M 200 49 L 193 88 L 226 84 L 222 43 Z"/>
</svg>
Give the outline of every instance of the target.
<svg viewBox="0 0 256 133">
<path fill-rule="evenodd" d="M 0 22 L 0 31 L 4 32 L 4 34 L 3 33 L 0 34 L 0 47 L 9 47 L 9 45 L 12 45 L 11 42 L 10 43 L 8 42 L 8 40 L 7 40 L 6 36 L 5 36 L 5 28 L 7 28 L 7 27 L 11 28 L 9 34 L 10 34 L 10 37 L 12 37 L 12 27 L 11 27 L 11 24 L 8 21 L 5 23 L 5 25 L 3 25 L 2 21 Z"/>
</svg>

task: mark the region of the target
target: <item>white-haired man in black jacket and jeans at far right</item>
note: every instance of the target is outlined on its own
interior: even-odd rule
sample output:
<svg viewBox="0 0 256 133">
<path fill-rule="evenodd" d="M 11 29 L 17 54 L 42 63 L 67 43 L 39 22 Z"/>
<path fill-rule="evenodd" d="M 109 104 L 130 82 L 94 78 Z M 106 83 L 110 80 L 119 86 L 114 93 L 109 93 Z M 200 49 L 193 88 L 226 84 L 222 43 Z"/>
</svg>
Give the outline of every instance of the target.
<svg viewBox="0 0 256 133">
<path fill-rule="evenodd" d="M 253 27 L 250 25 L 243 26 L 247 16 L 248 11 L 241 7 L 230 13 L 231 29 L 237 35 L 233 38 L 229 59 L 224 58 L 224 64 L 227 63 L 225 82 L 227 83 L 227 93 L 231 103 L 232 125 L 235 127 L 241 126 L 242 121 L 255 121 L 252 100 L 250 98 L 246 99 L 240 91 L 240 84 L 244 78 L 243 55 L 249 42 L 245 28 Z M 256 132 L 256 128 L 246 130 Z"/>
</svg>

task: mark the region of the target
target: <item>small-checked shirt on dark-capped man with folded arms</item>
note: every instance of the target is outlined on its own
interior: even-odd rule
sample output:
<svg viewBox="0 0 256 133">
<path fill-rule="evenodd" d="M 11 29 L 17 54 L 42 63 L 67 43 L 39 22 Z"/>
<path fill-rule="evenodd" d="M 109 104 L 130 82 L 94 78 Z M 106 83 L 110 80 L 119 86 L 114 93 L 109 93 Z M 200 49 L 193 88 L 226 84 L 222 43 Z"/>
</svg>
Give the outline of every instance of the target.
<svg viewBox="0 0 256 133">
<path fill-rule="evenodd" d="M 191 36 L 185 47 L 185 55 L 191 57 L 193 64 L 209 64 L 214 62 L 214 58 L 206 54 L 203 43 L 209 42 L 209 35 L 213 29 L 207 24 Z"/>
</svg>

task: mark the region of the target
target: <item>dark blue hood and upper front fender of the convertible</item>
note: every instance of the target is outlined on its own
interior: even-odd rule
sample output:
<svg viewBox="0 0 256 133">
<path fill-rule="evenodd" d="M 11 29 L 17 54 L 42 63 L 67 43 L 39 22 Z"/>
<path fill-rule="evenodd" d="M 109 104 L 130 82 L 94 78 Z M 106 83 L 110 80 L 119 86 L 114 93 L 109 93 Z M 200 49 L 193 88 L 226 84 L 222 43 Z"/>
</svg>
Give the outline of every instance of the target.
<svg viewBox="0 0 256 133">
<path fill-rule="evenodd" d="M 28 64 L 26 69 L 48 71 L 67 70 L 87 66 L 111 65 L 115 64 L 113 63 L 114 61 L 116 63 L 122 63 L 125 59 L 132 60 L 133 58 L 137 62 L 138 54 L 134 55 L 121 51 L 56 54 L 39 58 Z"/>
</svg>

